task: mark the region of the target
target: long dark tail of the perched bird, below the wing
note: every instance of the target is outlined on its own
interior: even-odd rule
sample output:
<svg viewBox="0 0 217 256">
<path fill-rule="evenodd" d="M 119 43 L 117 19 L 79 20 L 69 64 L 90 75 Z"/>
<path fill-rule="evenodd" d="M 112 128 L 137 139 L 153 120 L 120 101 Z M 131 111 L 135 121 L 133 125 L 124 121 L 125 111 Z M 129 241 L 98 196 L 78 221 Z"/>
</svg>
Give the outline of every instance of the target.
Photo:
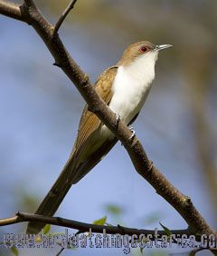
<svg viewBox="0 0 217 256">
<path fill-rule="evenodd" d="M 103 143 L 99 149 L 90 155 L 90 157 L 82 162 L 79 166 L 76 160 L 71 156 L 70 160 L 64 166 L 60 176 L 52 185 L 52 189 L 47 193 L 35 214 L 43 216 L 52 216 L 59 208 L 62 200 L 71 185 L 79 182 L 90 170 L 107 154 L 110 149 L 117 143 L 117 139 Z M 41 222 L 29 222 L 26 233 L 38 233 L 45 226 Z"/>
</svg>

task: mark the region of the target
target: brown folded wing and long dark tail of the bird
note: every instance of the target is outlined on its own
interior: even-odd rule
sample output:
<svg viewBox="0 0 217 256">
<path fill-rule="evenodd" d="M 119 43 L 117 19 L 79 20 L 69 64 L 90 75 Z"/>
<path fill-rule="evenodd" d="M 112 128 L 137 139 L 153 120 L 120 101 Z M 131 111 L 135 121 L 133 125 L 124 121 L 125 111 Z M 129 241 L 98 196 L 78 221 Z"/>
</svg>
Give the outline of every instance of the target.
<svg viewBox="0 0 217 256">
<path fill-rule="evenodd" d="M 111 86 L 117 74 L 118 66 L 112 66 L 104 71 L 95 84 L 97 93 L 106 103 L 109 103 L 112 97 Z M 104 142 L 96 151 L 90 153 L 91 139 L 93 133 L 99 128 L 99 118 L 88 110 L 85 106 L 80 119 L 80 126 L 77 140 L 74 144 L 71 156 L 66 162 L 60 176 L 52 185 L 52 189 L 43 199 L 36 214 L 52 216 L 58 209 L 65 195 L 71 188 L 71 184 L 80 181 L 80 179 L 90 172 L 100 159 L 112 148 L 117 142 L 114 138 L 111 141 Z M 84 161 L 80 161 L 80 157 L 84 157 Z M 27 233 L 38 233 L 44 226 L 44 223 L 31 222 L 28 224 Z"/>
</svg>

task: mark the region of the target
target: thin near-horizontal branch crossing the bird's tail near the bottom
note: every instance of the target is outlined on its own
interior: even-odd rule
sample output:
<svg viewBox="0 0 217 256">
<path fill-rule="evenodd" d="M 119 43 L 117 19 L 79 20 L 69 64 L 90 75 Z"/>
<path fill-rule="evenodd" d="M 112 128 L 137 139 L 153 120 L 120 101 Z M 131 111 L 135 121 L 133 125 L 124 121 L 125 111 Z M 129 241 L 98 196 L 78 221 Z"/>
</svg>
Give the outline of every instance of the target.
<svg viewBox="0 0 217 256">
<path fill-rule="evenodd" d="M 108 234 L 152 234 L 155 235 L 155 231 L 152 230 L 138 230 L 134 228 L 126 228 L 122 226 L 104 226 L 104 225 L 96 225 L 96 224 L 90 224 L 90 223 L 84 223 L 84 222 L 76 222 L 68 219 L 63 219 L 60 217 L 47 217 L 32 213 L 25 213 L 25 212 L 17 212 L 14 217 L 6 218 L 6 219 L 0 219 L 0 226 L 6 226 L 6 225 L 12 225 L 15 223 L 20 222 L 42 222 L 42 223 L 48 223 L 56 226 L 61 226 L 65 228 L 71 228 L 74 230 L 78 230 L 80 232 L 86 232 L 91 231 L 96 233 L 103 233 L 103 230 L 106 230 Z M 174 230 L 171 231 L 172 234 L 186 234 L 191 235 L 196 233 L 190 232 L 189 230 Z M 165 231 L 157 231 L 157 234 L 159 236 L 166 235 Z"/>
</svg>

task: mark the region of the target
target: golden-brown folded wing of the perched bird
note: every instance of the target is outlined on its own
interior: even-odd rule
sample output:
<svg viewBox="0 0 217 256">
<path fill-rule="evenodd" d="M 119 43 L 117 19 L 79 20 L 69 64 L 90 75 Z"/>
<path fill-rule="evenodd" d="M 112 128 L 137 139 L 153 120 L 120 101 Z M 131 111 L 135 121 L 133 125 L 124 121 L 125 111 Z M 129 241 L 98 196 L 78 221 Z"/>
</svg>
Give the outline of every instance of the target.
<svg viewBox="0 0 217 256">
<path fill-rule="evenodd" d="M 97 93 L 107 104 L 109 104 L 112 97 L 111 86 L 114 82 L 117 70 L 118 66 L 110 67 L 100 74 L 99 79 L 95 84 Z M 90 112 L 88 110 L 88 105 L 86 105 L 81 115 L 79 132 L 72 153 L 80 152 L 84 142 L 90 139 L 91 134 L 99 128 L 100 123 L 101 121 L 99 118 L 94 113 Z"/>
</svg>

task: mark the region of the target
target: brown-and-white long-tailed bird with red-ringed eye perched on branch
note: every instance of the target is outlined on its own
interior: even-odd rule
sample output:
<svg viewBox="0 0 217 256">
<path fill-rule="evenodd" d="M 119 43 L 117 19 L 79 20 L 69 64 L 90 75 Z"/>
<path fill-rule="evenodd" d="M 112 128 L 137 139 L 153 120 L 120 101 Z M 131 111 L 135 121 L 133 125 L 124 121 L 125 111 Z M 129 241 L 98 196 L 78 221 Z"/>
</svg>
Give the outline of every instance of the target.
<svg viewBox="0 0 217 256">
<path fill-rule="evenodd" d="M 155 78 L 158 53 L 171 46 L 148 41 L 130 44 L 118 63 L 99 75 L 94 85 L 96 92 L 122 122 L 130 125 L 137 119 Z M 70 157 L 35 214 L 52 216 L 71 185 L 90 172 L 117 142 L 117 137 L 86 105 Z M 26 233 L 36 234 L 44 225 L 29 222 Z"/>
</svg>

